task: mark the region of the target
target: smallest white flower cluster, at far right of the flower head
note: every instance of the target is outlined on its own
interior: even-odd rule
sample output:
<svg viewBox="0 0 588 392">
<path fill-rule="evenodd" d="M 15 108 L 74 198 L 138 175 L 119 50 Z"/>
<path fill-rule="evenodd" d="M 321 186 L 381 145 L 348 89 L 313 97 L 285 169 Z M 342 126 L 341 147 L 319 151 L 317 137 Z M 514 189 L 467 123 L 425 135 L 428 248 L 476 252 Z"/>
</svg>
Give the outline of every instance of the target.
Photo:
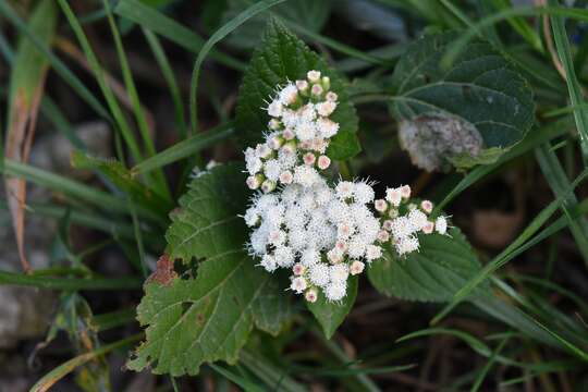
<svg viewBox="0 0 588 392">
<path fill-rule="evenodd" d="M 411 187 L 408 185 L 385 189 L 385 199 L 373 201 L 376 210 L 380 212 L 382 230 L 378 241 L 390 243 L 400 256 L 418 250 L 420 243 L 418 234 L 446 234 L 448 218 L 438 217 L 434 221 L 429 215 L 433 205 L 429 200 L 420 204 L 411 201 Z"/>
</svg>

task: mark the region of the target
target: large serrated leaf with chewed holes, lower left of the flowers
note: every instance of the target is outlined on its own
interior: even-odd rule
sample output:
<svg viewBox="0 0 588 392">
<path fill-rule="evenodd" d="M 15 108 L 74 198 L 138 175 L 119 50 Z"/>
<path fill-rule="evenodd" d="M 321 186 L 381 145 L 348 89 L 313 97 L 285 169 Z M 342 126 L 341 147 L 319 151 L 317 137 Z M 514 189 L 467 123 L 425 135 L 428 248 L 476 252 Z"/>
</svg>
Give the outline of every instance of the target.
<svg viewBox="0 0 588 392">
<path fill-rule="evenodd" d="M 172 257 L 204 259 L 196 278 L 149 280 L 137 308 L 146 341 L 133 370 L 195 375 L 205 362 L 233 364 L 254 328 L 275 333 L 289 314 L 275 277 L 255 267 L 244 249 L 242 167 L 226 164 L 196 177 L 180 199 L 167 238 Z M 282 294 L 282 295 L 274 295 Z"/>
</svg>

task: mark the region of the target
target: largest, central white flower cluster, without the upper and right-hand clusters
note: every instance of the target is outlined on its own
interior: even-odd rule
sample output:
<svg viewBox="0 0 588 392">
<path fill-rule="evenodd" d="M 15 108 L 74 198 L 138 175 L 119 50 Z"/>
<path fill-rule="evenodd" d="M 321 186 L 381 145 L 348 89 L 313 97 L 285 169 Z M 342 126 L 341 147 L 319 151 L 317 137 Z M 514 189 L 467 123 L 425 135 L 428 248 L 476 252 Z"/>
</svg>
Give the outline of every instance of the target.
<svg viewBox="0 0 588 392">
<path fill-rule="evenodd" d="M 341 181 L 332 189 L 322 177 L 311 186 L 260 194 L 245 213 L 254 228 L 249 253 L 269 272 L 292 269 L 291 290 L 307 301 L 317 299 L 318 289 L 340 301 L 350 274 L 382 255 L 375 245 L 380 222 L 367 207 L 371 201 L 373 189 L 365 182 Z"/>
</svg>

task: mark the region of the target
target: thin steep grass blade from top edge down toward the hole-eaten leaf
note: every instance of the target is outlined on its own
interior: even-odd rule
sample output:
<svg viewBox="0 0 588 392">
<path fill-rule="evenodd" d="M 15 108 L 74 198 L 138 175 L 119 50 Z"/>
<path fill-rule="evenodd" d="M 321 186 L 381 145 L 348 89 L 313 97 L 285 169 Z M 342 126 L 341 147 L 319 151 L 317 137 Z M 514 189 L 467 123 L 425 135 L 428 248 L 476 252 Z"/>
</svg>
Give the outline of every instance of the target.
<svg viewBox="0 0 588 392">
<path fill-rule="evenodd" d="M 149 130 L 147 117 L 145 115 L 145 110 L 143 109 L 143 106 L 140 103 L 138 91 L 135 86 L 135 82 L 133 81 L 133 74 L 131 73 L 131 69 L 128 66 L 128 60 L 126 59 L 126 54 L 124 52 L 121 35 L 119 34 L 119 28 L 114 23 L 114 17 L 112 16 L 112 12 L 110 10 L 109 0 L 103 0 L 102 3 L 107 12 L 107 19 L 110 25 L 110 30 L 112 32 L 112 37 L 114 38 L 114 47 L 117 48 L 117 53 L 119 56 L 119 63 L 122 70 L 126 94 L 128 95 L 128 98 L 131 99 L 131 105 L 133 106 L 135 120 L 137 122 L 140 136 L 143 137 L 143 144 L 147 151 L 147 156 L 152 157 L 156 155 L 156 149 L 155 143 L 151 138 L 151 131 L 155 134 L 156 130 Z M 150 179 L 150 176 L 148 176 L 148 179 Z M 163 175 L 163 172 L 161 170 L 156 170 L 152 173 L 152 181 L 149 182 L 152 183 L 154 188 L 156 188 L 163 197 L 171 200 L 170 188 L 168 186 L 168 183 L 166 182 L 166 176 Z"/>
</svg>

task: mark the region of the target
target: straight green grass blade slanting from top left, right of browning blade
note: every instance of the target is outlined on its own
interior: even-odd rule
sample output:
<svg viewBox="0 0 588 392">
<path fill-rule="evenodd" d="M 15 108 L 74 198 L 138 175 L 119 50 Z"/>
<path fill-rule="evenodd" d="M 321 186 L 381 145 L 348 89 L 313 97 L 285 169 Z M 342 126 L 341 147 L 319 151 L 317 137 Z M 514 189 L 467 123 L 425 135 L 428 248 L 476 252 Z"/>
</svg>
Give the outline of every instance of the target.
<svg viewBox="0 0 588 392">
<path fill-rule="evenodd" d="M 128 125 L 126 119 L 124 118 L 124 113 L 122 112 L 119 101 L 114 97 L 112 89 L 110 88 L 109 84 L 106 81 L 105 72 L 102 68 L 100 66 L 100 63 L 98 62 L 98 58 L 94 53 L 91 46 L 89 45 L 86 34 L 82 29 L 82 25 L 79 24 L 79 22 L 77 21 L 77 17 L 75 16 L 72 9 L 70 8 L 70 4 L 68 4 L 68 1 L 66 0 L 58 0 L 58 1 L 59 1 L 59 5 L 61 7 L 61 10 L 68 17 L 68 21 L 70 22 L 70 25 L 72 26 L 72 29 L 74 30 L 75 36 L 77 37 L 77 40 L 79 41 L 79 45 L 82 45 L 82 49 L 84 50 L 88 64 L 90 65 L 94 72 L 94 75 L 96 76 L 96 81 L 98 82 L 98 85 L 100 86 L 100 90 L 102 91 L 102 95 L 105 96 L 105 99 L 107 100 L 108 107 L 112 113 L 112 117 L 114 118 L 119 132 L 122 134 L 124 142 L 128 146 L 128 149 L 131 150 L 131 155 L 133 156 L 133 159 L 139 162 L 142 160 L 142 155 L 140 155 L 138 144 L 135 140 L 135 136 L 133 135 L 131 126 Z"/>
</svg>

